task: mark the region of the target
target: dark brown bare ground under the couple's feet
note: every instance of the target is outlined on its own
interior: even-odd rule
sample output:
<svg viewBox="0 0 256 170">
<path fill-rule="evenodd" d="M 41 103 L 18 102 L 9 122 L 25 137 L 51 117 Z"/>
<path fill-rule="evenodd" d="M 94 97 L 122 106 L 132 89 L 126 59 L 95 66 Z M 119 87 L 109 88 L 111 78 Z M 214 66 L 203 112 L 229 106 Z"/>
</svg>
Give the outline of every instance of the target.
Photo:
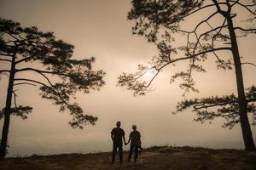
<svg viewBox="0 0 256 170">
<path fill-rule="evenodd" d="M 1 170 L 256 170 L 256 153 L 245 150 L 212 150 L 204 148 L 158 147 L 143 150 L 137 162 L 110 163 L 111 153 L 63 154 L 7 158 L 0 161 Z"/>
</svg>

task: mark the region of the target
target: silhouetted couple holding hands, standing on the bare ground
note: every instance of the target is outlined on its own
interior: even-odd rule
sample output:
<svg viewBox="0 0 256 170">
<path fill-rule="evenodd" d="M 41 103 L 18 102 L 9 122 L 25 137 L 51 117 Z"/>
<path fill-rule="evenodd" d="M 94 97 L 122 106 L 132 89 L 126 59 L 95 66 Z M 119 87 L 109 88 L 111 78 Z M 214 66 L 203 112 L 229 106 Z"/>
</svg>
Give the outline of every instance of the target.
<svg viewBox="0 0 256 170">
<path fill-rule="evenodd" d="M 123 139 L 125 142 L 125 131 L 120 127 L 121 122 L 116 123 L 116 127 L 114 127 L 111 131 L 111 139 L 113 140 L 113 151 L 112 151 L 112 163 L 115 160 L 116 152 L 117 149 L 119 149 L 119 159 L 120 162 L 123 162 Z M 129 151 L 129 156 L 128 156 L 128 161 L 131 161 L 131 156 L 134 152 L 134 161 L 137 161 L 137 156 L 138 156 L 138 150 L 143 149 L 141 147 L 141 134 L 137 131 L 137 126 L 132 125 L 132 131 L 129 135 L 129 140 L 126 144 L 129 144 L 131 141 L 130 145 L 130 151 Z"/>
</svg>

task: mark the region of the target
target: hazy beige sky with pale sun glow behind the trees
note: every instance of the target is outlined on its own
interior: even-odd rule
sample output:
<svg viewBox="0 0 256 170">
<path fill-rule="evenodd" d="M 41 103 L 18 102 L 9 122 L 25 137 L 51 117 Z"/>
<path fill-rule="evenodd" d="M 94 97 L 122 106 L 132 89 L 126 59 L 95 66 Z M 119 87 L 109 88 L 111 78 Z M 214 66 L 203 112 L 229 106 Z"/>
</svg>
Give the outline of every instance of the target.
<svg viewBox="0 0 256 170">
<path fill-rule="evenodd" d="M 96 126 L 84 130 L 69 127 L 68 113 L 59 113 L 58 106 L 41 99 L 38 88 L 20 87 L 19 104 L 32 105 L 33 111 L 26 121 L 11 117 L 9 156 L 111 150 L 110 131 L 117 121 L 122 122 L 126 134 L 130 133 L 132 124 L 137 124 L 143 146 L 243 148 L 240 125 L 230 130 L 221 127 L 220 119 L 211 125 L 193 122 L 195 116 L 191 111 L 172 115 L 177 101 L 183 99 L 183 91 L 178 88 L 178 82 L 170 85 L 169 81 L 178 69 L 187 67 L 183 63 L 161 72 L 153 83 L 154 91 L 146 96 L 134 97 L 130 91 L 116 87 L 117 77 L 123 71 L 136 71 L 137 64 L 145 64 L 157 54 L 155 47 L 143 37 L 131 35 L 132 22 L 126 20 L 130 8 L 128 0 L 0 0 L 0 17 L 18 21 L 22 26 L 54 31 L 55 37 L 75 46 L 75 59 L 95 56 L 95 68 L 107 72 L 106 86 L 101 91 L 77 95 L 84 111 L 99 117 Z M 242 39 L 239 45 L 246 61 L 256 63 L 255 37 Z M 0 63 L 0 66 L 5 65 Z M 187 98 L 236 93 L 234 71 L 217 70 L 211 58 L 206 62 L 206 69 L 207 73 L 195 77 L 200 94 L 189 94 Z M 256 84 L 256 67 L 247 65 L 243 71 L 246 87 Z M 0 87 L 3 107 L 7 77 L 1 79 Z M 2 125 L 3 120 L 1 132 Z M 252 130 L 255 140 L 256 127 Z"/>
</svg>

